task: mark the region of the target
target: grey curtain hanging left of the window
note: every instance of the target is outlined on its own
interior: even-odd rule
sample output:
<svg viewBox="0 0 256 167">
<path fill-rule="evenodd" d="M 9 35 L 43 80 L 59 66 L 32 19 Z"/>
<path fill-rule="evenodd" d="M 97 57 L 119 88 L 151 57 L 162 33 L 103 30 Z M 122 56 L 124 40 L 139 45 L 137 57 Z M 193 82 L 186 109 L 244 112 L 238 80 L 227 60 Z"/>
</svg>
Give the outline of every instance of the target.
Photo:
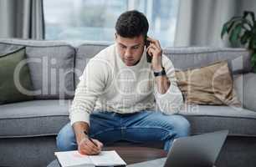
<svg viewBox="0 0 256 167">
<path fill-rule="evenodd" d="M 0 38 L 44 39 L 43 0 L 1 0 Z"/>
</svg>

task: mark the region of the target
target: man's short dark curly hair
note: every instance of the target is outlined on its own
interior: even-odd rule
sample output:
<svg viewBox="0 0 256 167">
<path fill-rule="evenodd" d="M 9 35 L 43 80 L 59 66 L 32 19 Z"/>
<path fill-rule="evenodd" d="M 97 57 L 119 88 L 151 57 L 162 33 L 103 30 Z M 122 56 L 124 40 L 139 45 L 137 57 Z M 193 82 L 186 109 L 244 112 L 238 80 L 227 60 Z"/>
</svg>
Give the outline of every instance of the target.
<svg viewBox="0 0 256 167">
<path fill-rule="evenodd" d="M 146 37 L 148 21 L 143 13 L 136 10 L 127 11 L 117 19 L 115 31 L 124 38 L 134 38 L 141 34 Z"/>
</svg>

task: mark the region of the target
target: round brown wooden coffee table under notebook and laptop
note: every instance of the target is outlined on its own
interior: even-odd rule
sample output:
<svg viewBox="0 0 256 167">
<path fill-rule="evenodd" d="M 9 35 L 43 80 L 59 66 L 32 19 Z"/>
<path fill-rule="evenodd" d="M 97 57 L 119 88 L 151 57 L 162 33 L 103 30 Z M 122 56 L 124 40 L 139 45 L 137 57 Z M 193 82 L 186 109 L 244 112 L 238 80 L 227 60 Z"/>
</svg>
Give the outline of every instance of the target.
<svg viewBox="0 0 256 167">
<path fill-rule="evenodd" d="M 103 150 L 115 150 L 126 164 L 135 164 L 153 159 L 166 157 L 167 153 L 163 149 L 155 149 L 148 147 L 105 147 Z M 47 167 L 59 167 L 58 161 L 55 159 Z"/>
</svg>

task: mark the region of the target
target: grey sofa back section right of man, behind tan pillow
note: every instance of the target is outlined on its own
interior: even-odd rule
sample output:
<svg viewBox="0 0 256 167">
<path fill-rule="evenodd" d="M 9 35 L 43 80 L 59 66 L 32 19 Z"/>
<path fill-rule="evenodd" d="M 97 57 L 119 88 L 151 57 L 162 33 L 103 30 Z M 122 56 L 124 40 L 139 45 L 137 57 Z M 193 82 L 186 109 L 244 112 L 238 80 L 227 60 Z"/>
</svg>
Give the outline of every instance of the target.
<svg viewBox="0 0 256 167">
<path fill-rule="evenodd" d="M 165 48 L 163 53 L 172 60 L 175 68 L 182 70 L 223 60 L 228 60 L 233 73 L 248 73 L 252 70 L 250 54 L 244 48 L 176 47 Z"/>
</svg>

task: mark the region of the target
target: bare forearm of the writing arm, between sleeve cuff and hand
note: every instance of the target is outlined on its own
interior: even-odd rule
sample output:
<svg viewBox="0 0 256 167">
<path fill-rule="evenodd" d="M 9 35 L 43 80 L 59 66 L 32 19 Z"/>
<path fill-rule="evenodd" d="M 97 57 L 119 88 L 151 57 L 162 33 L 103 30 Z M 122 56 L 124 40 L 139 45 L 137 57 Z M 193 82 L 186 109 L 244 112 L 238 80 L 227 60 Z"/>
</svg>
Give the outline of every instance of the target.
<svg viewBox="0 0 256 167">
<path fill-rule="evenodd" d="M 89 124 L 85 122 L 76 122 L 72 125 L 72 127 L 74 129 L 74 134 L 77 142 L 81 141 L 81 139 L 84 139 L 84 137 L 86 137 L 84 131 L 86 131 L 87 134 L 89 133 Z"/>
</svg>

